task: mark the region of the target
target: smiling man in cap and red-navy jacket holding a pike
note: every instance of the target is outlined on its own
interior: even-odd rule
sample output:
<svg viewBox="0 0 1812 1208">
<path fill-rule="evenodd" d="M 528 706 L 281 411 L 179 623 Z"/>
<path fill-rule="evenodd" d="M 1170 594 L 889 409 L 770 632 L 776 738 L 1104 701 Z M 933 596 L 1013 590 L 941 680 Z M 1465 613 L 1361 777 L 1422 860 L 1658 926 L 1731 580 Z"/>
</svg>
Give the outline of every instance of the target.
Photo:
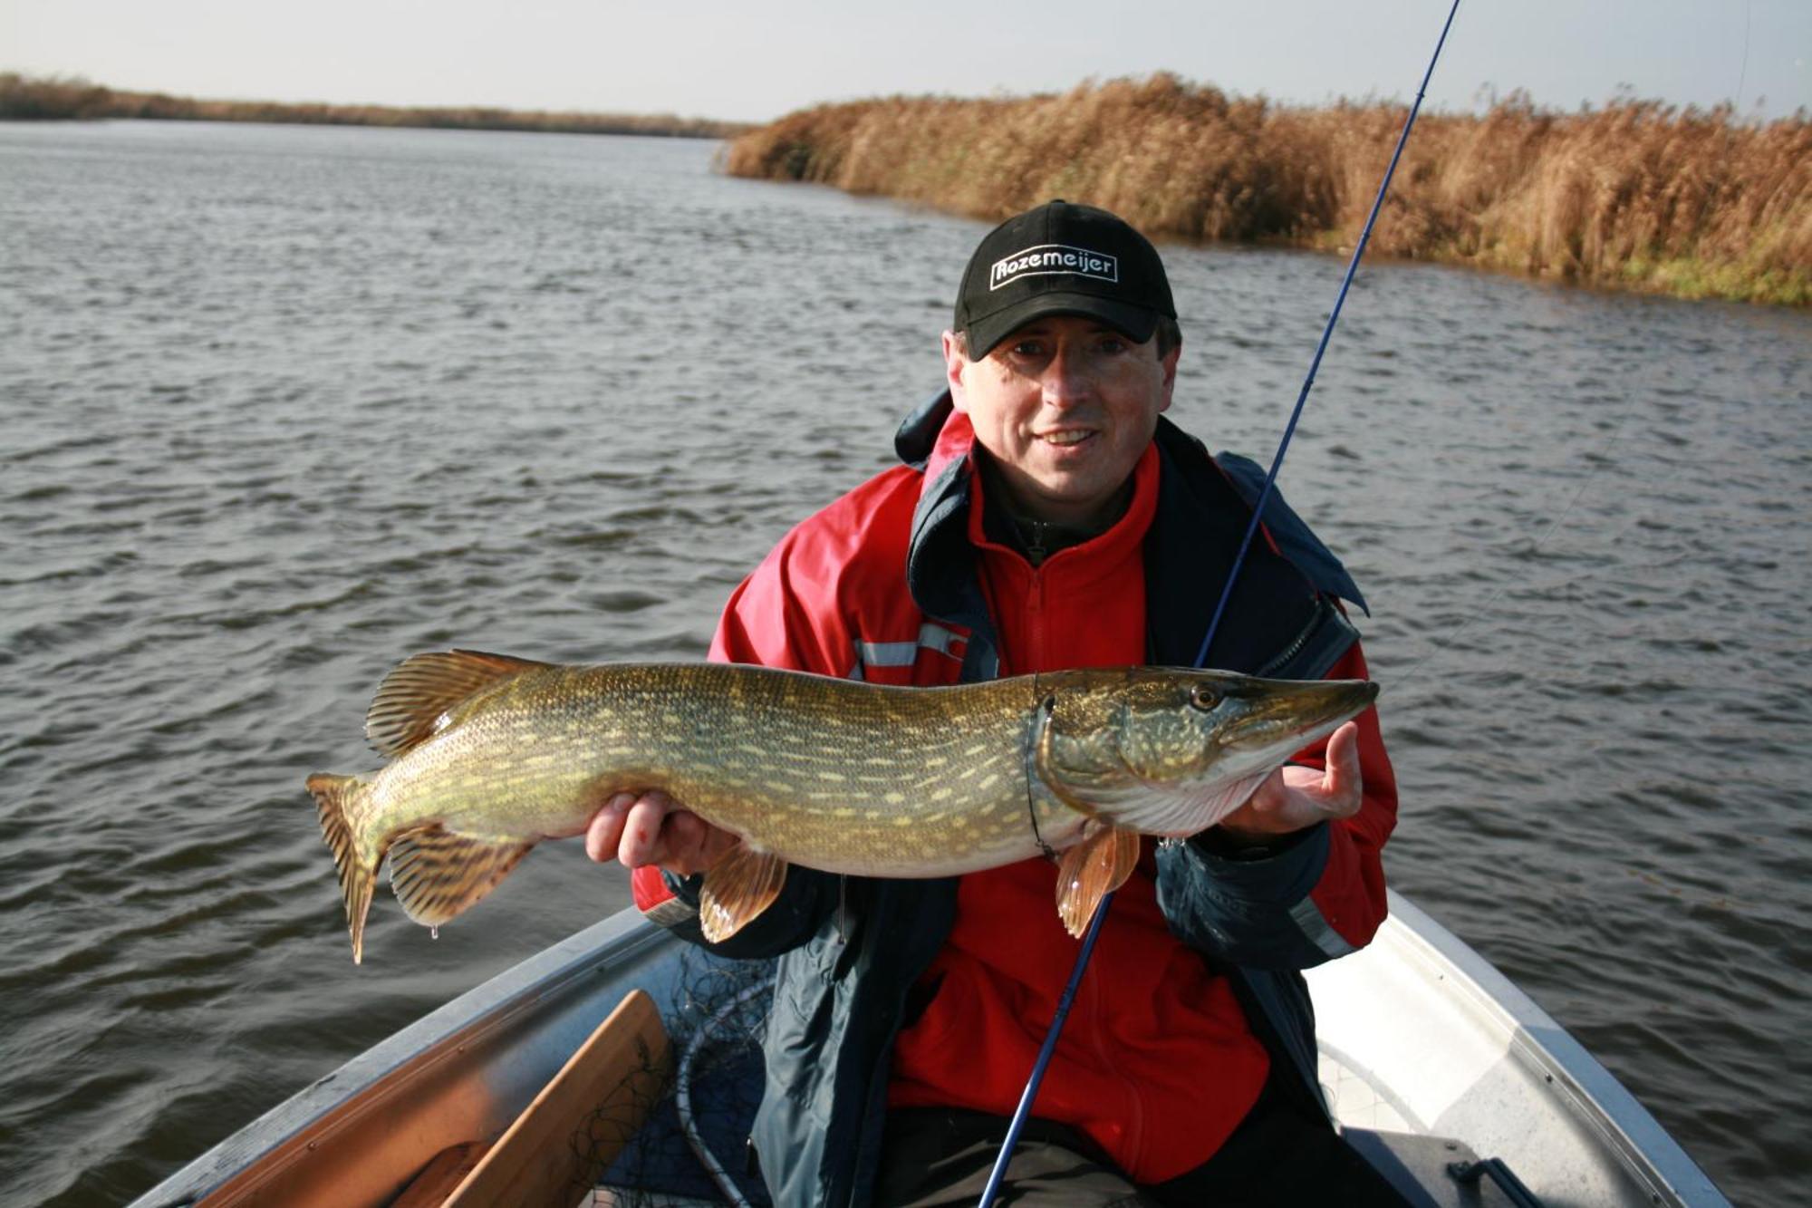
<svg viewBox="0 0 1812 1208">
<path fill-rule="evenodd" d="M 895 441 L 908 464 L 788 533 L 730 597 L 712 658 L 920 686 L 1192 664 L 1261 475 L 1160 419 L 1180 350 L 1163 263 L 1129 225 L 1065 201 L 1002 223 L 944 332 L 948 399 Z M 1363 678 L 1335 597 L 1361 602 L 1274 499 L 1207 666 Z M 1013 1203 L 1390 1203 L 1328 1126 L 1296 970 L 1372 938 L 1393 820 L 1366 711 L 1218 827 L 1145 842 Z M 587 831 L 694 941 L 692 874 L 736 842 L 661 794 L 618 794 Z M 935 882 L 794 867 L 718 945 L 779 956 L 754 1126 L 776 1203 L 975 1203 L 1078 949 L 1055 876 L 1046 860 Z"/>
</svg>

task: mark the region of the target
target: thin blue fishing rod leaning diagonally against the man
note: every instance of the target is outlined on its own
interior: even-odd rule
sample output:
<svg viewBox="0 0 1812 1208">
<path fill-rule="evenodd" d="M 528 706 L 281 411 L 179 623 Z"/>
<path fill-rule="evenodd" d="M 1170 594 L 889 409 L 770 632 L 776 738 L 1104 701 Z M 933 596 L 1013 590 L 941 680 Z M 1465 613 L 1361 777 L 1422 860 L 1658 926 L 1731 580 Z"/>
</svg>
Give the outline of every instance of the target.
<svg viewBox="0 0 1812 1208">
<path fill-rule="evenodd" d="M 1422 96 L 1428 94 L 1428 82 L 1435 74 L 1435 63 L 1441 62 L 1441 49 L 1448 44 L 1448 31 L 1453 29 L 1453 16 L 1460 9 L 1460 0 L 1453 0 L 1448 9 L 1448 20 L 1441 25 L 1441 38 L 1435 40 L 1435 53 L 1428 58 L 1428 69 L 1422 73 L 1422 83 L 1415 89 L 1415 102 L 1410 105 L 1410 114 L 1402 120 L 1402 132 L 1397 136 L 1397 147 L 1390 152 L 1390 165 L 1384 169 L 1384 180 L 1379 181 L 1377 198 L 1372 200 L 1372 212 L 1364 219 L 1364 229 L 1359 232 L 1359 241 L 1354 245 L 1352 259 L 1346 261 L 1346 276 L 1341 278 L 1341 290 L 1334 297 L 1334 308 L 1328 312 L 1328 323 L 1321 328 L 1321 341 L 1316 345 L 1316 356 L 1308 363 L 1308 375 L 1303 379 L 1303 390 L 1296 395 L 1296 408 L 1290 412 L 1290 423 L 1283 428 L 1283 439 L 1277 441 L 1277 453 L 1270 459 L 1270 470 L 1265 473 L 1265 486 L 1258 493 L 1258 501 L 1252 504 L 1252 521 L 1247 524 L 1245 537 L 1239 541 L 1239 551 L 1234 555 L 1232 570 L 1227 571 L 1227 582 L 1221 588 L 1221 599 L 1214 606 L 1214 615 L 1209 619 L 1209 629 L 1201 637 L 1201 649 L 1196 651 L 1196 664 L 1203 666 L 1209 658 L 1209 646 L 1214 642 L 1214 633 L 1221 626 L 1221 615 L 1227 611 L 1227 600 L 1234 595 L 1234 580 L 1239 577 L 1239 568 L 1245 566 L 1247 551 L 1252 548 L 1252 537 L 1258 533 L 1259 521 L 1265 515 L 1265 504 L 1270 502 L 1272 488 L 1277 482 L 1277 472 L 1283 468 L 1283 455 L 1290 450 L 1290 439 L 1296 435 L 1296 424 L 1303 417 L 1303 406 L 1308 403 L 1308 392 L 1316 385 L 1316 372 L 1321 368 L 1321 357 L 1328 350 L 1328 341 L 1334 337 L 1334 325 L 1339 323 L 1341 307 L 1346 305 L 1346 290 L 1352 288 L 1354 274 L 1359 272 L 1359 258 L 1364 256 L 1366 245 L 1372 241 L 1372 227 L 1377 225 L 1379 210 L 1384 209 L 1384 194 L 1390 192 L 1390 178 L 1397 174 L 1397 161 L 1402 158 L 1402 149 L 1410 143 L 1410 131 L 1415 129 L 1415 114 L 1422 109 Z M 1056 1001 L 1056 1012 L 1051 1016 L 1051 1028 L 1044 1036 L 1044 1045 L 1038 1048 L 1038 1059 L 1031 1067 L 1031 1077 L 1026 1079 L 1026 1090 L 1020 1094 L 1018 1106 L 1013 1108 L 1013 1121 L 1007 1125 L 1006 1141 L 1000 1143 L 1000 1154 L 995 1157 L 995 1168 L 988 1174 L 988 1184 L 982 1188 L 982 1199 L 977 1208 L 991 1208 L 995 1195 L 1000 1193 L 1000 1183 L 1006 1179 L 1007 1163 L 1013 1157 L 1013 1148 L 1018 1145 L 1020 1132 L 1026 1128 L 1026 1119 L 1031 1115 L 1031 1105 L 1038 1097 L 1038 1086 L 1044 1083 L 1044 1072 L 1051 1065 L 1051 1054 L 1056 1052 L 1056 1038 L 1064 1030 L 1064 1021 L 1069 1018 L 1069 1008 L 1076 1001 L 1076 989 L 1082 985 L 1082 974 L 1089 967 L 1089 958 L 1094 954 L 1094 941 L 1102 932 L 1102 920 L 1107 918 L 1107 907 L 1114 901 L 1114 894 L 1105 894 L 1098 907 L 1094 907 L 1094 918 L 1089 920 L 1089 930 L 1082 938 L 1082 950 L 1076 952 L 1076 967 L 1069 974 L 1069 983 L 1064 987 L 1062 998 Z"/>
</svg>

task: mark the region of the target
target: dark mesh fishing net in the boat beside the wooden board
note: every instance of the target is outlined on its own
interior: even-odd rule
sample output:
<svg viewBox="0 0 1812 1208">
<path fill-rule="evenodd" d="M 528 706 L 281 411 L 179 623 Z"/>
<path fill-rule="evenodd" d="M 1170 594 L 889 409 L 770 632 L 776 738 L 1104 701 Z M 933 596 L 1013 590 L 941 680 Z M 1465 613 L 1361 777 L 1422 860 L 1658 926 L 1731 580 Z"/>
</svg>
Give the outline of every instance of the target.
<svg viewBox="0 0 1812 1208">
<path fill-rule="evenodd" d="M 596 1204 L 770 1203 L 750 1157 L 748 1128 L 761 1103 L 761 1038 L 772 996 L 772 961 L 727 961 L 685 947 L 661 1003 L 674 1077 L 658 1101 L 636 1105 L 643 1125 L 627 1145 L 622 1112 L 596 1112 L 578 1132 L 582 1146 L 623 1145 L 600 1179 Z"/>
</svg>

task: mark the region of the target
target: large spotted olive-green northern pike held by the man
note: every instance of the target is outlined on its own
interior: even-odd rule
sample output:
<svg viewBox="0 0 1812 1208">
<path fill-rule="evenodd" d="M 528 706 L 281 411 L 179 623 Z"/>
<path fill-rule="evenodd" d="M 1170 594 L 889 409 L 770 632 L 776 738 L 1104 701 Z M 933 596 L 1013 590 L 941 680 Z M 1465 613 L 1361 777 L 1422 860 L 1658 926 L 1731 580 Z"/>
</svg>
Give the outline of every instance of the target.
<svg viewBox="0 0 1812 1208">
<path fill-rule="evenodd" d="M 779 894 L 788 863 L 933 878 L 1062 852 L 1082 934 L 1138 862 L 1238 809 L 1288 756 L 1377 697 L 1368 680 L 1089 667 L 886 687 L 737 664 L 415 655 L 366 715 L 373 778 L 313 774 L 353 961 L 377 869 L 417 923 L 484 898 L 536 842 L 620 791 L 661 789 L 741 842 L 705 874 L 707 940 Z"/>
</svg>

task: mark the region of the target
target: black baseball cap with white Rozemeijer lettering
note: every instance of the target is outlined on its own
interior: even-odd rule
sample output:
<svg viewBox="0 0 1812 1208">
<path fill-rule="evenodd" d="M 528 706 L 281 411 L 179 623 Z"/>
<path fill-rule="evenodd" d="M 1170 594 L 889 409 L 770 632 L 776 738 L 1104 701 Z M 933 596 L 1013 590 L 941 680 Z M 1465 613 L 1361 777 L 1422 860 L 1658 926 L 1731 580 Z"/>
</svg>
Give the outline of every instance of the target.
<svg viewBox="0 0 1812 1208">
<path fill-rule="evenodd" d="M 1151 239 L 1093 205 L 1046 201 L 988 232 L 957 292 L 957 330 L 980 359 L 1047 314 L 1100 319 L 1145 343 L 1176 317 L 1171 279 Z"/>
</svg>

